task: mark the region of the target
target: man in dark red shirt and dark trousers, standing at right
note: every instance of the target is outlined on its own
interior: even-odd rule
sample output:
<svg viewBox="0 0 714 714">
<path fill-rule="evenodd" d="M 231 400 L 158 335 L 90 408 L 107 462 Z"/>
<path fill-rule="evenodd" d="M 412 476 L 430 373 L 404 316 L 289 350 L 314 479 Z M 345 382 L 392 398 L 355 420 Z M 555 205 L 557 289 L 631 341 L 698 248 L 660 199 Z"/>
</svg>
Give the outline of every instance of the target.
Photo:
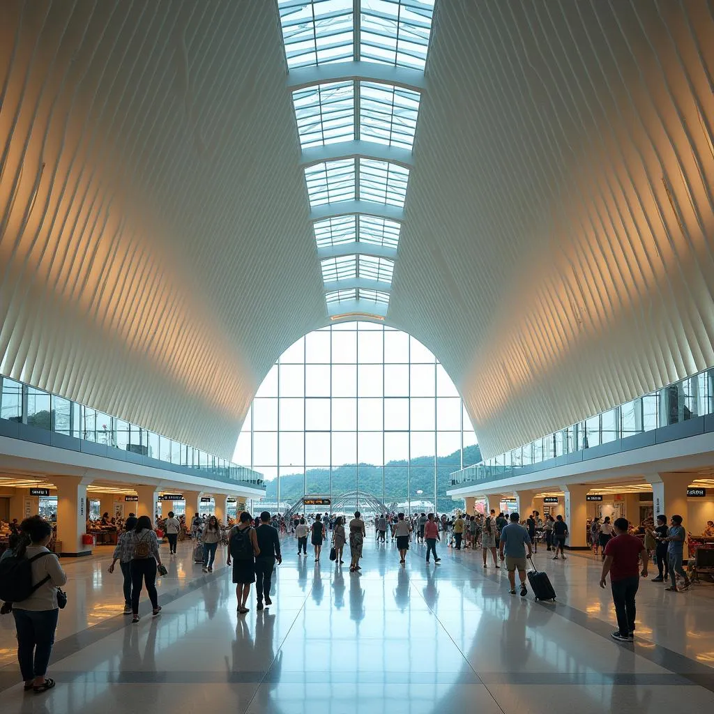
<svg viewBox="0 0 714 714">
<path fill-rule="evenodd" d="M 600 576 L 600 588 L 605 588 L 605 578 L 610 573 L 610 588 L 618 618 L 618 629 L 610 636 L 618 642 L 633 642 L 635 639 L 635 595 L 640 587 L 640 574 L 643 578 L 647 577 L 649 560 L 642 540 L 628 535 L 629 527 L 627 518 L 618 518 L 613 523 L 615 538 L 610 538 L 608 545 L 605 545 L 603 574 Z"/>
</svg>

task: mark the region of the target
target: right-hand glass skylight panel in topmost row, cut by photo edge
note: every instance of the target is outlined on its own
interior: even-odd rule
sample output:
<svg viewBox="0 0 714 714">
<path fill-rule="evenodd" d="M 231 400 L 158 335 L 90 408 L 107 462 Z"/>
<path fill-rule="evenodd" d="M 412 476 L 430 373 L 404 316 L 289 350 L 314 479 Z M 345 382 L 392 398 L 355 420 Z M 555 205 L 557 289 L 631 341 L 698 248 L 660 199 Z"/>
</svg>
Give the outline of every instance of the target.
<svg viewBox="0 0 714 714">
<path fill-rule="evenodd" d="M 360 57 L 424 69 L 434 0 L 362 0 Z"/>
</svg>

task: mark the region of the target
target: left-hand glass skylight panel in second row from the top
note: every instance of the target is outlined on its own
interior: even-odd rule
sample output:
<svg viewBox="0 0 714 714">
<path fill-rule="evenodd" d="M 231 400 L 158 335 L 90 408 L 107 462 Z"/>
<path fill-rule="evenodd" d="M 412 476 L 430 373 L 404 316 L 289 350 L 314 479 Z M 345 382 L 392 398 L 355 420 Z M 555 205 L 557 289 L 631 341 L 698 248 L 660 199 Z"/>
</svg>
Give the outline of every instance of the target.
<svg viewBox="0 0 714 714">
<path fill-rule="evenodd" d="M 293 91 L 300 146 L 324 146 L 355 138 L 354 82 L 330 82 Z"/>
</svg>

